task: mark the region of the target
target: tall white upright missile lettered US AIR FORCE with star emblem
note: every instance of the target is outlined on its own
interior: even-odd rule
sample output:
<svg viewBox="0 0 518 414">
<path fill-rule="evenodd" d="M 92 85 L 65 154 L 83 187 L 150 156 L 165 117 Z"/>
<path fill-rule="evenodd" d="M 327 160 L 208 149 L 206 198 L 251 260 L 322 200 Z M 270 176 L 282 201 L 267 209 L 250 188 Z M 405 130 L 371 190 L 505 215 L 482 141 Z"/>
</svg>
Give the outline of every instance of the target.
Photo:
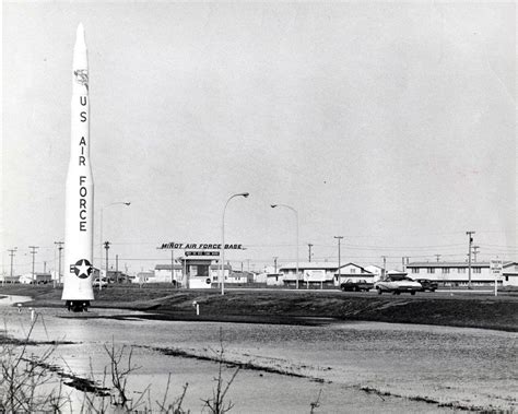
<svg viewBox="0 0 518 414">
<path fill-rule="evenodd" d="M 90 165 L 89 60 L 83 25 L 73 48 L 70 162 L 64 205 L 64 280 L 62 300 L 83 311 L 94 299 L 94 180 Z"/>
</svg>

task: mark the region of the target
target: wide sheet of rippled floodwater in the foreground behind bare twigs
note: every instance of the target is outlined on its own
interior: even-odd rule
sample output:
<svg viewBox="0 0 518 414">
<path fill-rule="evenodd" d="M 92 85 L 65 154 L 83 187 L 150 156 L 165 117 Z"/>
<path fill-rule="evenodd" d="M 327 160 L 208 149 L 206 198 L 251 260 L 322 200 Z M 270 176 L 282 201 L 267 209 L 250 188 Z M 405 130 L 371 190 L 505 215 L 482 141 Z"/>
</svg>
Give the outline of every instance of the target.
<svg viewBox="0 0 518 414">
<path fill-rule="evenodd" d="M 10 333 L 21 336 L 27 332 L 28 315 L 13 310 L 9 315 L 4 312 L 4 318 L 9 320 Z M 132 390 L 152 385 L 157 393 L 155 399 L 160 400 L 172 372 L 173 395 L 178 395 L 189 382 L 185 406 L 195 411 L 200 409 L 200 398 L 211 395 L 217 365 L 164 355 L 153 348 L 214 356 L 223 343 L 228 360 L 308 377 L 242 370 L 229 394 L 239 403 L 237 412 L 309 412 L 309 403 L 319 390 L 323 390 L 323 412 L 392 412 L 390 404 L 393 412 L 397 409 L 399 412 L 449 411 L 382 397 L 389 400 L 387 403 L 379 395 L 358 391 L 360 387 L 466 406 L 517 409 L 511 390 L 518 378 L 518 335 L 511 332 L 377 322 L 292 327 L 148 321 L 133 319 L 137 312 L 113 309 L 98 309 L 96 314 L 131 318 L 74 319 L 61 318 L 68 315 L 64 309 L 38 311 L 40 323 L 33 339 L 51 336 L 81 342 L 58 346 L 56 351 L 61 364 L 66 360 L 72 371 L 89 376 L 93 369 L 96 376 L 102 376 L 109 365 L 105 345 L 114 343 L 117 348 L 133 345 L 133 362 L 141 368 L 131 376 Z M 344 401 L 351 401 L 352 405 L 345 407 Z"/>
</svg>

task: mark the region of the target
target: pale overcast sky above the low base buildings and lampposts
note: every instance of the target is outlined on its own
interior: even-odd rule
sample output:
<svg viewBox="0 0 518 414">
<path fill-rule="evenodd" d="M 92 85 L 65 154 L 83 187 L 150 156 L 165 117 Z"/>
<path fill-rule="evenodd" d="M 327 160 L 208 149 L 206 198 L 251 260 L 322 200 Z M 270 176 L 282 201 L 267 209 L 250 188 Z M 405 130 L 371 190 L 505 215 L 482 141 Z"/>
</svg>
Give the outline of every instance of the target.
<svg viewBox="0 0 518 414">
<path fill-rule="evenodd" d="M 64 237 L 72 50 L 90 58 L 96 218 L 130 272 L 162 243 L 256 270 L 516 259 L 514 2 L 3 2 L 2 261 Z M 94 253 L 99 256 L 98 224 Z M 178 251 L 177 255 L 180 255 Z M 156 260 L 158 259 L 158 260 Z M 162 260 L 161 260 L 162 259 Z"/>
</svg>

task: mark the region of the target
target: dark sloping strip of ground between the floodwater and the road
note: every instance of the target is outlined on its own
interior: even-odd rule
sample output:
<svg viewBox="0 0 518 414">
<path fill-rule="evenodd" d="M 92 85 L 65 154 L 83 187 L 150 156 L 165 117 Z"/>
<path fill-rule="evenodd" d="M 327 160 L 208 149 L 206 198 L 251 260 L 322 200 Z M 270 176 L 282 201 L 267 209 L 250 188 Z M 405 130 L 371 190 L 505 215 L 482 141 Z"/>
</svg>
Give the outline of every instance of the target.
<svg viewBox="0 0 518 414">
<path fill-rule="evenodd" d="M 4 285 L 0 295 L 31 296 L 33 307 L 62 307 L 61 288 Z M 193 301 L 200 306 L 196 315 Z M 217 289 L 187 291 L 167 285 L 109 285 L 95 289 L 95 308 L 149 311 L 148 319 L 212 320 L 314 324 L 329 320 L 424 323 L 518 331 L 518 295 L 422 293 L 381 295 L 340 291 Z"/>
</svg>

